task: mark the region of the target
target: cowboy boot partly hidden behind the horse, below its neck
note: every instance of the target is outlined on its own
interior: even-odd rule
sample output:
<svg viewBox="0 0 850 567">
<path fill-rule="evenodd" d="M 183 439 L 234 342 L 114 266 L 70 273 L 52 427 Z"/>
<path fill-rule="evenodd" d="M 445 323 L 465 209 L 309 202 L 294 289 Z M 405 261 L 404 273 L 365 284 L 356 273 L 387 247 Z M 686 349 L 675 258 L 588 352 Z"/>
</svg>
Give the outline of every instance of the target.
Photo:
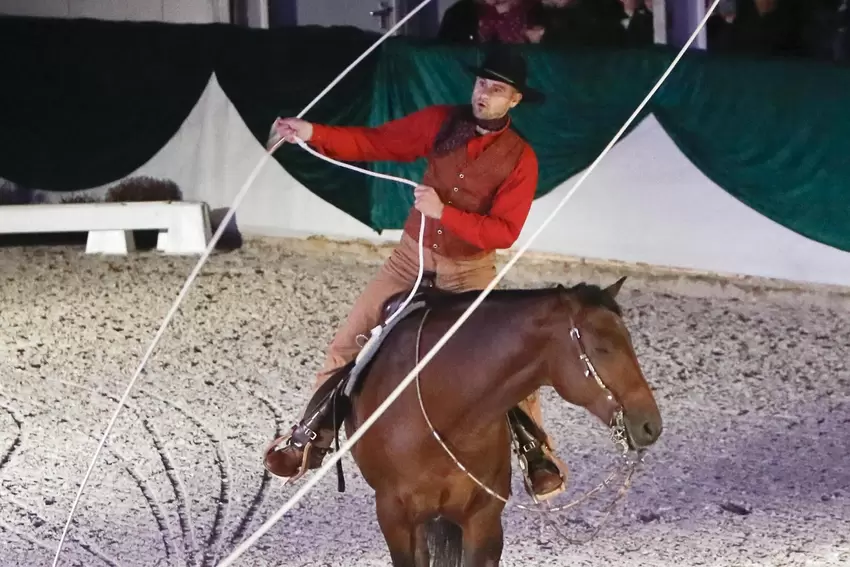
<svg viewBox="0 0 850 567">
<path fill-rule="evenodd" d="M 546 443 L 532 435 L 529 429 L 536 430 L 541 438 L 542 431 L 519 408 L 508 412 L 508 421 L 516 440 L 517 457 L 528 494 L 535 502 L 542 502 L 563 492 L 566 474 L 555 463 Z"/>
</svg>

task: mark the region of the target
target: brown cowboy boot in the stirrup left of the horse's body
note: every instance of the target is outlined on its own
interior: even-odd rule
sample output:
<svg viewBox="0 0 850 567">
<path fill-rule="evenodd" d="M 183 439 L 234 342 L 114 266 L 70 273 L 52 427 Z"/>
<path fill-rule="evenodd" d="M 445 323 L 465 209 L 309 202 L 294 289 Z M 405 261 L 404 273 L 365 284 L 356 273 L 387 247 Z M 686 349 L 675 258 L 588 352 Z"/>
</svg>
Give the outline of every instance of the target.
<svg viewBox="0 0 850 567">
<path fill-rule="evenodd" d="M 321 391 L 316 392 L 318 397 Z M 325 397 L 314 405 L 307 406 L 307 412 L 292 431 L 272 441 L 266 448 L 263 465 L 271 474 L 287 478 L 290 481 L 301 478 L 308 470 L 322 466 L 337 432 L 334 423 L 335 392 L 325 393 Z"/>
</svg>

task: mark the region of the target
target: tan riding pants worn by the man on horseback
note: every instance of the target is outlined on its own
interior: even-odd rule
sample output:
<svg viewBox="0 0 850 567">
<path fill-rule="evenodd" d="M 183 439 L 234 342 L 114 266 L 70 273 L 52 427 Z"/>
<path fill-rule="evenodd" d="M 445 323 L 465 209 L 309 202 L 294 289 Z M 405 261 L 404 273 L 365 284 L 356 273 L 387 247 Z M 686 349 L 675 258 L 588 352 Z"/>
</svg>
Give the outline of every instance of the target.
<svg viewBox="0 0 850 567">
<path fill-rule="evenodd" d="M 482 290 L 496 277 L 495 254 L 470 259 L 454 259 L 424 250 L 425 270 L 437 274 L 435 285 L 452 292 Z M 358 335 L 367 338 L 381 318 L 381 307 L 392 295 L 409 290 L 419 274 L 419 244 L 407 233 L 402 235 L 398 247 L 366 286 L 348 318 L 337 330 L 327 351 L 324 366 L 316 375 L 314 388 L 327 380 L 334 370 L 353 360 L 360 352 Z M 543 415 L 537 392 L 529 396 L 520 407 L 543 427 Z M 551 440 L 548 441 L 551 446 Z"/>
</svg>

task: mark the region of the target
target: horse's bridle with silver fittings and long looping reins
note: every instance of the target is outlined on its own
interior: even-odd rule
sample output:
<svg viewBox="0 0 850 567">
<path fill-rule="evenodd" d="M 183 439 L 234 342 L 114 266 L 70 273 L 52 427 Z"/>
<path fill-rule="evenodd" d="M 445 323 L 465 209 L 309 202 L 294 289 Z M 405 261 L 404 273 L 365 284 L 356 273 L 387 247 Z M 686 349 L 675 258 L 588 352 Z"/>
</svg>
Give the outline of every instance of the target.
<svg viewBox="0 0 850 567">
<path fill-rule="evenodd" d="M 422 330 L 425 327 L 425 320 L 428 318 L 428 314 L 430 312 L 431 312 L 430 308 L 425 309 L 425 312 L 422 315 L 422 320 L 419 323 L 419 330 L 416 334 L 416 364 L 419 364 L 419 349 L 420 349 L 420 345 L 421 345 L 421 342 L 422 342 Z M 575 324 L 575 321 L 573 320 L 572 316 L 570 317 L 570 326 L 571 326 L 570 337 L 576 343 L 576 347 L 577 347 L 577 350 L 578 350 L 578 353 L 579 353 L 578 358 L 579 358 L 581 364 L 584 366 L 585 377 L 586 378 L 593 377 L 593 379 L 596 381 L 596 383 L 599 385 L 599 387 L 602 388 L 602 390 L 605 392 L 607 399 L 609 401 L 616 400 L 614 393 L 610 390 L 610 388 L 608 388 L 608 386 L 605 385 L 605 382 L 602 381 L 602 378 L 599 376 L 599 372 L 597 372 L 596 367 L 593 366 L 593 362 L 591 362 L 590 357 L 587 355 L 587 350 L 584 346 L 584 342 L 581 339 L 581 332 L 579 331 L 578 326 Z M 475 482 L 475 484 L 477 484 L 479 487 L 481 487 L 481 489 L 483 489 L 485 492 L 487 492 L 488 494 L 490 494 L 494 498 L 504 502 L 506 505 L 511 505 L 511 502 L 509 502 L 507 498 L 505 498 L 501 494 L 498 494 L 497 492 L 495 492 L 493 489 L 491 489 L 490 487 L 485 485 L 483 482 L 481 482 L 478 478 L 476 478 L 475 475 L 473 475 L 471 472 L 469 472 L 469 470 L 463 465 L 463 463 L 460 462 L 460 460 L 455 456 L 455 454 L 452 453 L 451 449 L 448 448 L 448 446 L 443 441 L 440 434 L 434 428 L 433 423 L 431 423 L 431 419 L 428 417 L 428 412 L 425 411 L 425 404 L 422 401 L 422 390 L 421 390 L 421 387 L 420 387 L 419 377 L 420 376 L 417 373 L 417 375 L 416 375 L 416 396 L 419 399 L 419 408 L 422 410 L 422 417 L 425 418 L 425 422 L 428 424 L 428 428 L 431 431 L 431 435 L 434 437 L 434 439 L 437 440 L 437 443 L 439 443 L 440 446 L 446 451 L 446 453 L 449 455 L 449 457 L 452 459 L 452 461 L 454 461 L 455 465 L 457 465 L 457 467 L 460 470 L 462 470 L 464 473 L 466 473 L 466 475 L 473 482 Z M 593 530 L 593 532 L 591 533 L 590 537 L 587 540 L 577 541 L 577 540 L 574 540 L 574 539 L 571 539 L 571 538 L 565 536 L 563 533 L 560 532 L 558 527 L 554 523 L 552 523 L 551 520 L 544 517 L 544 521 L 547 524 L 549 524 L 550 527 L 553 528 L 553 530 L 558 534 L 558 536 L 561 537 L 562 539 L 567 540 L 570 543 L 582 543 L 583 544 L 583 543 L 587 543 L 588 541 L 590 541 L 594 537 L 596 537 L 596 535 L 599 533 L 599 530 L 602 528 L 602 525 L 605 523 L 605 521 L 610 516 L 611 511 L 614 508 L 614 505 L 625 496 L 626 492 L 628 491 L 628 489 L 631 486 L 631 480 L 632 480 L 632 477 L 633 477 L 635 471 L 637 470 L 638 465 L 643 462 L 643 451 L 637 451 L 637 458 L 636 459 L 635 458 L 633 458 L 633 459 L 629 458 L 628 431 L 626 430 L 625 418 L 624 418 L 624 415 L 623 415 L 623 407 L 622 407 L 622 404 L 619 401 L 617 402 L 617 409 L 614 411 L 614 414 L 611 418 L 611 421 L 608 423 L 608 427 L 610 429 L 611 441 L 613 441 L 615 446 L 617 446 L 620 449 L 620 455 L 619 456 L 620 456 L 620 459 L 621 459 L 621 465 L 620 465 L 620 467 L 615 468 L 615 470 L 612 471 L 605 478 L 605 480 L 600 482 L 598 485 L 596 485 L 594 488 L 592 488 L 591 490 L 586 492 L 581 497 L 579 497 L 579 498 L 573 500 L 572 502 L 565 504 L 563 506 L 558 506 L 558 507 L 553 508 L 553 507 L 548 507 L 548 504 L 547 504 L 546 508 L 541 509 L 540 507 L 532 508 L 532 507 L 529 507 L 529 506 L 524 506 L 522 504 L 516 504 L 516 503 L 514 503 L 512 505 L 514 507 L 520 508 L 522 510 L 527 510 L 529 512 L 536 512 L 536 513 L 540 513 L 540 514 L 544 514 L 544 515 L 548 514 L 550 512 L 559 512 L 559 511 L 563 511 L 563 510 L 568 510 L 570 508 L 577 506 L 581 502 L 587 500 L 593 494 L 595 494 L 595 493 L 601 491 L 602 489 L 606 488 L 607 486 L 609 486 L 611 481 L 613 481 L 614 478 L 617 476 L 617 473 L 619 471 L 623 471 L 625 473 L 624 480 L 623 480 L 623 486 L 618 490 L 614 499 L 607 506 L 606 512 L 605 512 L 605 517 L 602 519 L 602 521 L 599 523 L 599 525 Z M 514 440 L 514 441 L 515 441 L 515 448 L 517 448 L 516 447 L 516 440 Z"/>
</svg>

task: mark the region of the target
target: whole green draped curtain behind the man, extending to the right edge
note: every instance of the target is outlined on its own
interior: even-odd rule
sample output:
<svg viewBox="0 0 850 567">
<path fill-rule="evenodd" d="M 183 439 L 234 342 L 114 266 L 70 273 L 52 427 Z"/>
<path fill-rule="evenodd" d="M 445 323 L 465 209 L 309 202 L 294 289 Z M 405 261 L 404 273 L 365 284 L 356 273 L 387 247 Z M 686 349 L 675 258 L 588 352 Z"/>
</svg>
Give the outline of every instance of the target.
<svg viewBox="0 0 850 567">
<path fill-rule="evenodd" d="M 548 95 L 542 105 L 514 111 L 515 127 L 540 161 L 538 197 L 596 159 L 675 55 L 665 48 L 523 49 L 530 80 Z M 387 42 L 369 123 L 427 104 L 466 102 L 472 76 L 464 64 L 480 57 L 474 47 Z M 729 194 L 791 230 L 850 251 L 847 93 L 846 68 L 694 53 L 679 62 L 632 127 L 653 113 L 685 156 Z M 372 167 L 417 180 L 424 164 Z M 372 226 L 400 228 L 412 203 L 409 188 L 379 179 L 371 186 Z"/>
</svg>

